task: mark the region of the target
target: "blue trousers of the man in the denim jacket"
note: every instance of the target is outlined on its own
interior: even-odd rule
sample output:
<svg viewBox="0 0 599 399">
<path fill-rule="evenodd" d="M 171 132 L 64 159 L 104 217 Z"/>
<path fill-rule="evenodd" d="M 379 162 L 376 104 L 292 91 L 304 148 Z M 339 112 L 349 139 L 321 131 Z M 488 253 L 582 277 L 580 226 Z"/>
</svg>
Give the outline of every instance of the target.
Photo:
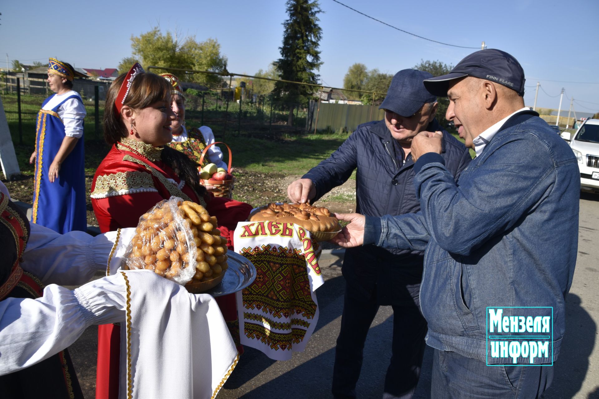
<svg viewBox="0 0 599 399">
<path fill-rule="evenodd" d="M 431 398 L 539 398 L 552 379 L 552 366 L 487 366 L 478 359 L 435 349 Z"/>
</svg>

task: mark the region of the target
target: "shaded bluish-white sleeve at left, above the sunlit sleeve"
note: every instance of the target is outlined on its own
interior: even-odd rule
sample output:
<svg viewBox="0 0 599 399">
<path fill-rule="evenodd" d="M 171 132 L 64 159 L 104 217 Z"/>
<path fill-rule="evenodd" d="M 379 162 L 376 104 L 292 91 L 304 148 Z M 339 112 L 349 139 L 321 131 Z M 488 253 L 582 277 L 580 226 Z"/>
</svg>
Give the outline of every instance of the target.
<svg viewBox="0 0 599 399">
<path fill-rule="evenodd" d="M 129 236 L 124 234 L 129 230 L 135 229 L 121 229 L 121 234 Z M 32 223 L 20 265 L 44 284 L 83 284 L 96 271 L 106 269 L 116 234 L 108 232 L 95 237 L 83 232 L 59 234 Z"/>
</svg>

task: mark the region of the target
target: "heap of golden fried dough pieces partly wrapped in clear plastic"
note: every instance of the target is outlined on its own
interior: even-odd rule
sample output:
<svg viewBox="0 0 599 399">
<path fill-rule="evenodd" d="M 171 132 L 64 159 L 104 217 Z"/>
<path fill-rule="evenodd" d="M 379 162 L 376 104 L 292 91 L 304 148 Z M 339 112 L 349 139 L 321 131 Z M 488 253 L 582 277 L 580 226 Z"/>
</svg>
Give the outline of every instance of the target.
<svg viewBox="0 0 599 399">
<path fill-rule="evenodd" d="M 181 285 L 220 282 L 228 265 L 226 239 L 216 226 L 216 217 L 201 205 L 179 197 L 162 200 L 141 215 L 123 262 Z"/>
</svg>

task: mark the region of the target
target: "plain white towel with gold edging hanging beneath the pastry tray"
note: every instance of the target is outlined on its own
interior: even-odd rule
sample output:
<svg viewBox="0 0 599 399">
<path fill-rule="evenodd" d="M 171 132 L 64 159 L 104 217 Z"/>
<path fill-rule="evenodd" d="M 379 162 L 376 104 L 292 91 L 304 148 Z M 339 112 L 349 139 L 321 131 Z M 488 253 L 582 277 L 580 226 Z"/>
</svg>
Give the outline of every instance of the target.
<svg viewBox="0 0 599 399">
<path fill-rule="evenodd" d="M 122 272 L 120 258 L 129 235 L 135 233 L 122 232 L 110 259 L 110 274 Z M 216 397 L 238 355 L 214 298 L 147 278 L 153 273 L 149 270 L 123 273 L 129 306 L 126 323 L 121 324 L 119 397 Z"/>
</svg>

